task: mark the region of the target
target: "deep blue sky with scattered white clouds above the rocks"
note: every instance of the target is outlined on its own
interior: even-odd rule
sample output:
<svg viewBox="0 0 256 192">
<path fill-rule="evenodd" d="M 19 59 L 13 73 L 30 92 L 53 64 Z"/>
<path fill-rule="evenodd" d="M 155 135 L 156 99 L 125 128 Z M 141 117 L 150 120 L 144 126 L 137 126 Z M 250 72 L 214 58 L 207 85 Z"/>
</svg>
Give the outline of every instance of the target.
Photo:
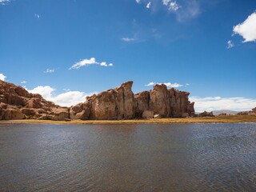
<svg viewBox="0 0 256 192">
<path fill-rule="evenodd" d="M 256 1 L 0 0 L 0 78 L 62 106 L 134 81 L 256 106 Z M 146 86 L 148 85 L 148 86 Z"/>
</svg>

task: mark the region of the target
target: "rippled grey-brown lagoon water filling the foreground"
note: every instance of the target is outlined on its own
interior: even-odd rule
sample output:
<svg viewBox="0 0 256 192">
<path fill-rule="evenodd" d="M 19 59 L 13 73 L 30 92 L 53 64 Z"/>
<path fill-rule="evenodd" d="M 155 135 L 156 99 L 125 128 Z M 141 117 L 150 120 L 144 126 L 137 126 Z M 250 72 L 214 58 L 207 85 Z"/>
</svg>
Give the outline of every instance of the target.
<svg viewBox="0 0 256 192">
<path fill-rule="evenodd" d="M 0 191 L 256 191 L 256 124 L 0 124 Z"/>
</svg>

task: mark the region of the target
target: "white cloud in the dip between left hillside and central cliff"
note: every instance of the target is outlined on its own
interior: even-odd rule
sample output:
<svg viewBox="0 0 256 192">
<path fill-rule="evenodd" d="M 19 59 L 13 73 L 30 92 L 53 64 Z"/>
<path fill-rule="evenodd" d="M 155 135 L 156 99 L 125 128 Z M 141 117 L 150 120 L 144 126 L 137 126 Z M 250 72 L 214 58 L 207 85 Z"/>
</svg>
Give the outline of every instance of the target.
<svg viewBox="0 0 256 192">
<path fill-rule="evenodd" d="M 66 93 L 55 95 L 55 89 L 50 86 L 37 86 L 33 90 L 28 90 L 32 94 L 41 94 L 43 98 L 54 102 L 59 106 L 74 106 L 79 102 L 85 102 L 86 97 L 95 93 L 86 94 L 81 91 L 67 91 Z"/>
</svg>

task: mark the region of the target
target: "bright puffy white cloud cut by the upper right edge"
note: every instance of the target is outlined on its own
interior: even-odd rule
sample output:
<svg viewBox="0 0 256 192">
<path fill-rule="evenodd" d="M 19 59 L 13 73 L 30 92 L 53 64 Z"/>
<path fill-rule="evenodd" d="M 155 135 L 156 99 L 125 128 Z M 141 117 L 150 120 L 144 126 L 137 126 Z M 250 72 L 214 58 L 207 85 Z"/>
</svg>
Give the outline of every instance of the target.
<svg viewBox="0 0 256 192">
<path fill-rule="evenodd" d="M 234 26 L 233 32 L 241 35 L 243 42 L 256 42 L 256 12 L 250 14 L 246 21 Z"/>
</svg>

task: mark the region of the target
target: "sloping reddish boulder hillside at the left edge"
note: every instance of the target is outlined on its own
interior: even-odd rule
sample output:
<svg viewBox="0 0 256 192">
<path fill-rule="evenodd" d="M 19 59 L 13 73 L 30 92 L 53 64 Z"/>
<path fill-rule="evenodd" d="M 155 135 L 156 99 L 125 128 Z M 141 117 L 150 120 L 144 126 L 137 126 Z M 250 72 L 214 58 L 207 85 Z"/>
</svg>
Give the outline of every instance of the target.
<svg viewBox="0 0 256 192">
<path fill-rule="evenodd" d="M 38 118 L 65 120 L 69 109 L 48 102 L 40 94 L 30 94 L 22 86 L 0 80 L 0 120 Z"/>
</svg>

